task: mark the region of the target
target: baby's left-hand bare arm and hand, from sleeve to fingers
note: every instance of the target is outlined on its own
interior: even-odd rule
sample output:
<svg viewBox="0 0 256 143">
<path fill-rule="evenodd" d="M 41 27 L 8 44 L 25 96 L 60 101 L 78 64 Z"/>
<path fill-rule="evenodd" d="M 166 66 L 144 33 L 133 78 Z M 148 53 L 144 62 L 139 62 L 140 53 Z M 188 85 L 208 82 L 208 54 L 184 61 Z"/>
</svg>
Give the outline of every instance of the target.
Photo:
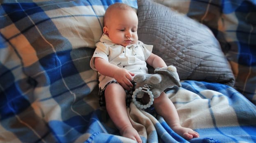
<svg viewBox="0 0 256 143">
<path fill-rule="evenodd" d="M 131 76 L 134 76 L 133 73 L 127 71 L 126 69 L 122 69 L 116 65 L 112 65 L 103 58 L 95 58 L 95 68 L 102 75 L 115 78 L 115 80 L 117 80 L 117 82 L 127 90 L 129 90 L 130 87 L 133 86 L 131 83 Z"/>
</svg>

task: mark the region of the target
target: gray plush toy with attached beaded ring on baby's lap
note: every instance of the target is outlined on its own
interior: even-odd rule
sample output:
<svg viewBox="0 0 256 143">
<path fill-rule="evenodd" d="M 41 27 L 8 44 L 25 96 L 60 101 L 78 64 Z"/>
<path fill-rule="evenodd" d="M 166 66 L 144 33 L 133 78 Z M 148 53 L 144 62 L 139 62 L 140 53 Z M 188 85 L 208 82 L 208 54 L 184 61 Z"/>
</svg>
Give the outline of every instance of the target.
<svg viewBox="0 0 256 143">
<path fill-rule="evenodd" d="M 159 97 L 166 88 L 181 87 L 177 69 L 173 65 L 156 68 L 154 72 L 155 74 L 137 74 L 134 76 L 136 86 L 132 100 L 141 109 L 150 107 L 153 104 L 154 98 Z M 136 101 L 136 98 L 142 98 L 145 93 L 150 96 L 150 101 L 146 105 L 141 105 Z"/>
</svg>

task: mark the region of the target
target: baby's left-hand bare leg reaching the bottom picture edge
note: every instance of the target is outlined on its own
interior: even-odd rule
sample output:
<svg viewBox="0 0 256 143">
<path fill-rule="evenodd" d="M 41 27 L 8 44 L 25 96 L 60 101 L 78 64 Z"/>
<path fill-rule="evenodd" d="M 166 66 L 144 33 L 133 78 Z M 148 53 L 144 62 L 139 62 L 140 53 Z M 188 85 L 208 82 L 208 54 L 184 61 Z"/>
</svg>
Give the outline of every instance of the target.
<svg viewBox="0 0 256 143">
<path fill-rule="evenodd" d="M 109 84 L 105 89 L 107 112 L 120 130 L 122 136 L 142 143 L 138 132 L 132 127 L 126 109 L 126 93 L 123 87 L 116 83 Z"/>
</svg>

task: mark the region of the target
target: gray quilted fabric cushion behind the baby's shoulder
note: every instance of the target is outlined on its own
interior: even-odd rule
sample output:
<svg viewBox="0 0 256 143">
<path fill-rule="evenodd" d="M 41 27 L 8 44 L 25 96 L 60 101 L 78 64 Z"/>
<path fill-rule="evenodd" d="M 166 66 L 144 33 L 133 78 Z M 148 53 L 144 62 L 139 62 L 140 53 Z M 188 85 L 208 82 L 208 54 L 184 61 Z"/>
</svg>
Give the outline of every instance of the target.
<svg viewBox="0 0 256 143">
<path fill-rule="evenodd" d="M 234 75 L 210 29 L 169 7 L 138 0 L 138 37 L 174 65 L 180 80 L 234 85 Z"/>
</svg>

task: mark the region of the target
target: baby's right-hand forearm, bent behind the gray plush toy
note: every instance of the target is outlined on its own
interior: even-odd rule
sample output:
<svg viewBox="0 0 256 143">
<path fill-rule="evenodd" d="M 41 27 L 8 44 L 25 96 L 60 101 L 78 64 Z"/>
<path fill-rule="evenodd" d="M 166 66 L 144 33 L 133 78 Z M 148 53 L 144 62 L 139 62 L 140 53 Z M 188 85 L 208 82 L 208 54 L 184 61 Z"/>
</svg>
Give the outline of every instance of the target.
<svg viewBox="0 0 256 143">
<path fill-rule="evenodd" d="M 148 65 L 152 66 L 154 69 L 157 67 L 167 67 L 164 60 L 153 53 L 150 54 L 146 62 L 148 63 Z"/>
</svg>

